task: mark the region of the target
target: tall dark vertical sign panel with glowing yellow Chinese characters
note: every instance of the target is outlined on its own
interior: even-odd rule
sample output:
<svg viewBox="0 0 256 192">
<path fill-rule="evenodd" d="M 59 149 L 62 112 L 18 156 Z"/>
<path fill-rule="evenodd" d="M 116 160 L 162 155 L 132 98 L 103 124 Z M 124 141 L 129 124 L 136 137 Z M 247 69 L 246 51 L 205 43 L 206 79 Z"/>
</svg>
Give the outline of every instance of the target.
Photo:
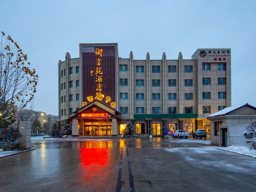
<svg viewBox="0 0 256 192">
<path fill-rule="evenodd" d="M 83 105 L 99 100 L 115 104 L 115 46 L 82 46 Z"/>
</svg>

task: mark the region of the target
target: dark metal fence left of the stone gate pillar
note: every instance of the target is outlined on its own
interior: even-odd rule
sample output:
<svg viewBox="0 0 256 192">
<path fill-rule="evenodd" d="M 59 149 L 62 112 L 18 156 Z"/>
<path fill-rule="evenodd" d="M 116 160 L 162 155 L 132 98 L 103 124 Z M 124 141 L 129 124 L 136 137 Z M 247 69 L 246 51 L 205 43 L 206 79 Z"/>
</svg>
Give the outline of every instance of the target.
<svg viewBox="0 0 256 192">
<path fill-rule="evenodd" d="M 0 129 L 0 143 L 18 143 L 19 135 L 19 128 Z"/>
</svg>

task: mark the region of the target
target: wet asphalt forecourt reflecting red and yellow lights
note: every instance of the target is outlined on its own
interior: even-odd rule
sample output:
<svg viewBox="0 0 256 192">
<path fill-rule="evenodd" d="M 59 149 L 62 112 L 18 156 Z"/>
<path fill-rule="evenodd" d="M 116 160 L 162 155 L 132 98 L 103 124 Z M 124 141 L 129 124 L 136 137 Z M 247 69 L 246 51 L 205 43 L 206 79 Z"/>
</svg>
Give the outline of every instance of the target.
<svg viewBox="0 0 256 192">
<path fill-rule="evenodd" d="M 36 141 L 0 159 L 0 191 L 256 191 L 255 158 L 192 141 Z"/>
</svg>

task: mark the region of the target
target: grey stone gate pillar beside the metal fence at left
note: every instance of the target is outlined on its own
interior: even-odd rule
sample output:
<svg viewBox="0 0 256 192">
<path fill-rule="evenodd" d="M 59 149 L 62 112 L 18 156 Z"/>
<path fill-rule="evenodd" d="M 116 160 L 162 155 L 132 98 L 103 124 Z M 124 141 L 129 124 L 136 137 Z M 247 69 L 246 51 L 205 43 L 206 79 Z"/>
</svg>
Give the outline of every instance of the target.
<svg viewBox="0 0 256 192">
<path fill-rule="evenodd" d="M 31 148 L 31 123 L 19 122 L 19 132 L 21 133 L 19 138 L 20 147 L 25 149 Z"/>
</svg>

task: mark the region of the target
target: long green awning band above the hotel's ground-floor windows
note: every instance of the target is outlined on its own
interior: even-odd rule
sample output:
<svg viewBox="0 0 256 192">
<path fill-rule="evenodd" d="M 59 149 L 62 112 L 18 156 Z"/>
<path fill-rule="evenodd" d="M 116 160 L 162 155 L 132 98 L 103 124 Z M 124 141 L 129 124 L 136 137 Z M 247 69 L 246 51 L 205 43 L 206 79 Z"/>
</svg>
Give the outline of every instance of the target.
<svg viewBox="0 0 256 192">
<path fill-rule="evenodd" d="M 134 118 L 135 119 L 145 119 L 145 118 L 152 118 L 152 119 L 197 118 L 197 114 L 134 114 Z"/>
</svg>

